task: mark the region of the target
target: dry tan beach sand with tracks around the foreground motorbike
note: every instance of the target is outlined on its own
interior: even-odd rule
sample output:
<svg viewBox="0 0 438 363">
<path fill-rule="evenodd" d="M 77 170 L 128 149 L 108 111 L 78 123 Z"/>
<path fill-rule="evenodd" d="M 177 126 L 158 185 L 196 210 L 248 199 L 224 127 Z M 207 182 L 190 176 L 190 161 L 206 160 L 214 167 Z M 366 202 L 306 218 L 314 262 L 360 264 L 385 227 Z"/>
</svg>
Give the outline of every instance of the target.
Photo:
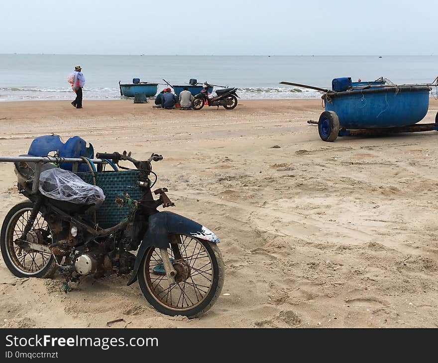
<svg viewBox="0 0 438 363">
<path fill-rule="evenodd" d="M 426 121 L 438 102 L 431 100 Z M 226 264 L 213 308 L 194 320 L 148 306 L 128 276 L 18 279 L 0 261 L 2 327 L 437 327 L 438 134 L 338 138 L 320 100 L 239 100 L 233 111 L 130 101 L 0 103 L 0 155 L 35 136 L 80 135 L 96 151 L 154 164 L 172 210 L 215 231 Z M 280 148 L 272 148 L 278 145 Z M 0 163 L 0 221 L 22 200 Z"/>
</svg>

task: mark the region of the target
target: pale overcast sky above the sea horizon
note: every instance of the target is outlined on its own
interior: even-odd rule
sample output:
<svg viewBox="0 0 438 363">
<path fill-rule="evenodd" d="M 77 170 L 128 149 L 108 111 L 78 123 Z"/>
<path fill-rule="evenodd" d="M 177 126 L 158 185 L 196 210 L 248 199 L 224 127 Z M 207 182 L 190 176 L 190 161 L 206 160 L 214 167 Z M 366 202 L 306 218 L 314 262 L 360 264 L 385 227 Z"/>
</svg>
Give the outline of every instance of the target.
<svg viewBox="0 0 438 363">
<path fill-rule="evenodd" d="M 0 53 L 431 55 L 437 0 L 1 0 Z"/>
</svg>

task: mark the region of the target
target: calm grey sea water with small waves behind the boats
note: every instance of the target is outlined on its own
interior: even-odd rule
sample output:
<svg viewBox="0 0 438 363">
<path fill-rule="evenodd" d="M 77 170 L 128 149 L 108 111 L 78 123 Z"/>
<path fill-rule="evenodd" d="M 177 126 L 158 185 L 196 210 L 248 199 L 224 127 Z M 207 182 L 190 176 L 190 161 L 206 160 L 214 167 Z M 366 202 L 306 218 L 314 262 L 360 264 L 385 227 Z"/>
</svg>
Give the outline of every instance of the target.
<svg viewBox="0 0 438 363">
<path fill-rule="evenodd" d="M 159 83 L 158 90 L 198 82 L 236 87 L 243 99 L 320 98 L 287 81 L 330 88 L 336 77 L 396 84 L 431 83 L 438 56 L 148 56 L 0 54 L 0 101 L 73 99 L 67 77 L 76 65 L 86 79 L 84 99 L 126 99 L 119 81 Z M 217 87 L 218 88 L 218 87 Z M 220 88 L 220 87 L 219 87 Z"/>
</svg>

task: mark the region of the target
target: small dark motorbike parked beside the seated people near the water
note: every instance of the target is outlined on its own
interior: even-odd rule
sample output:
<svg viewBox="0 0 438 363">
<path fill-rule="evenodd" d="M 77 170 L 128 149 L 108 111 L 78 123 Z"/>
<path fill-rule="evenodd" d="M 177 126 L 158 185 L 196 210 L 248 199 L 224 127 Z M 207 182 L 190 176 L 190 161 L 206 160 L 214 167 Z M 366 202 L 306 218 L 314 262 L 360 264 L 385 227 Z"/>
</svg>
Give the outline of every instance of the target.
<svg viewBox="0 0 438 363">
<path fill-rule="evenodd" d="M 209 89 L 213 90 L 215 85 L 203 84 L 201 93 L 197 94 L 192 101 L 192 108 L 194 110 L 200 110 L 205 104 L 208 106 L 223 106 L 228 110 L 232 110 L 237 106 L 237 98 L 240 98 L 236 91 L 237 88 L 225 88 L 222 90 L 216 90 L 216 97 L 209 98 Z"/>
</svg>

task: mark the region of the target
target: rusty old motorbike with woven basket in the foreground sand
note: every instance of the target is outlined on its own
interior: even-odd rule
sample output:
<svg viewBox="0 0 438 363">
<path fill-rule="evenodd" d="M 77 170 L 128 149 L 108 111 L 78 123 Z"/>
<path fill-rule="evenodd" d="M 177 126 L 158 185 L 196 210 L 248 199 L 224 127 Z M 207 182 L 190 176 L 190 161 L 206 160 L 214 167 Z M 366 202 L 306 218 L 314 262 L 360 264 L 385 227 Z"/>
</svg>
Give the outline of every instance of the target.
<svg viewBox="0 0 438 363">
<path fill-rule="evenodd" d="M 189 318 L 205 313 L 224 281 L 219 239 L 195 221 L 157 210 L 160 205 L 174 206 L 166 188 L 153 191 L 157 200 L 151 191 L 157 181 L 151 163 L 163 157 L 152 154 L 138 161 L 131 153 L 114 152 L 98 153 L 96 158 L 0 157 L 2 162 L 14 162 L 18 190 L 30 200 L 12 207 L 4 218 L 0 248 L 7 268 L 18 277 L 50 278 L 59 271 L 66 291 L 70 281 L 85 275 L 131 273 L 127 284 L 138 280 L 143 295 L 159 312 Z M 120 161 L 131 162 L 136 169 L 118 171 Z M 100 169 L 72 173 L 57 167 L 62 163 L 96 164 Z M 114 171 L 103 171 L 103 165 Z M 84 181 L 87 178 L 90 183 Z M 100 184 L 117 183 L 122 193 L 101 193 L 105 188 Z M 135 190 L 141 195 L 137 200 L 131 197 Z M 60 196 L 53 197 L 58 192 Z M 120 222 L 104 223 L 120 210 L 127 213 Z"/>
</svg>

